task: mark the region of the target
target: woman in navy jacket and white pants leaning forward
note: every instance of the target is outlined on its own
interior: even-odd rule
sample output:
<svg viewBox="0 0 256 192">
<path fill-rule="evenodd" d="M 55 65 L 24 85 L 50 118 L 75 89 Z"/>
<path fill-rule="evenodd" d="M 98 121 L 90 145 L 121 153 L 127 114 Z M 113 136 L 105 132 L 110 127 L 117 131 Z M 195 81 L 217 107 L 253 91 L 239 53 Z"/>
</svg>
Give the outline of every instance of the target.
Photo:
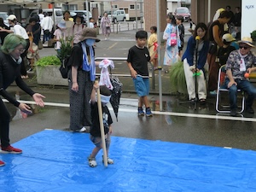
<svg viewBox="0 0 256 192">
<path fill-rule="evenodd" d="M 200 38 L 199 40 L 195 40 L 197 36 Z M 196 47 L 197 50 L 195 50 Z M 208 47 L 207 25 L 198 23 L 197 26 L 195 26 L 194 36 L 189 38 L 187 49 L 182 58 L 189 100 L 192 102 L 195 102 L 197 93 L 200 102 L 205 102 L 207 99 L 207 85 L 203 71 L 207 61 Z M 195 59 L 196 57 L 197 60 Z M 195 61 L 197 61 L 196 66 Z M 198 75 L 196 76 L 196 82 L 195 75 Z M 195 84 L 198 84 L 197 90 L 195 90 Z"/>
</svg>

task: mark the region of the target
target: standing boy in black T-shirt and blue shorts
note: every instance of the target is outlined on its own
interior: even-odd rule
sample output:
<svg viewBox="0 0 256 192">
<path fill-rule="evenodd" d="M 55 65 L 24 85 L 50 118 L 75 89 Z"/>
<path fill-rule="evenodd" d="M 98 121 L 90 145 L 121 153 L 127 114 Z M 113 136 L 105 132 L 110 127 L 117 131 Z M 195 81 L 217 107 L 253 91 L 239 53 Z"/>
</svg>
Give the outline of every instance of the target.
<svg viewBox="0 0 256 192">
<path fill-rule="evenodd" d="M 130 69 L 131 78 L 133 79 L 134 87 L 137 95 L 140 96 L 138 102 L 138 115 L 144 115 L 143 104 L 146 107 L 146 116 L 151 117 L 153 114 L 149 108 L 148 94 L 149 94 L 149 75 L 148 62 L 153 61 L 157 51 L 153 55 L 149 55 L 148 48 L 145 47 L 147 43 L 148 33 L 145 31 L 138 31 L 136 33 L 136 45 L 129 49 L 127 57 L 127 65 Z"/>
</svg>

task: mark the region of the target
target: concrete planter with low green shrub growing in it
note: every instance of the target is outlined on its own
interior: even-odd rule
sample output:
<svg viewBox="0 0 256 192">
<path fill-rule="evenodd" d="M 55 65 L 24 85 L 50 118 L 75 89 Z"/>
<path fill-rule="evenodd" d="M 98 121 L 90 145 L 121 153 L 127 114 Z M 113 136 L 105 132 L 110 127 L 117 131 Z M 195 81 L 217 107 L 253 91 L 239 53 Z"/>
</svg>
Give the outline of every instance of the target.
<svg viewBox="0 0 256 192">
<path fill-rule="evenodd" d="M 56 55 L 40 58 L 36 63 L 38 84 L 67 85 L 67 79 L 62 79 L 59 67 L 61 61 Z"/>
</svg>

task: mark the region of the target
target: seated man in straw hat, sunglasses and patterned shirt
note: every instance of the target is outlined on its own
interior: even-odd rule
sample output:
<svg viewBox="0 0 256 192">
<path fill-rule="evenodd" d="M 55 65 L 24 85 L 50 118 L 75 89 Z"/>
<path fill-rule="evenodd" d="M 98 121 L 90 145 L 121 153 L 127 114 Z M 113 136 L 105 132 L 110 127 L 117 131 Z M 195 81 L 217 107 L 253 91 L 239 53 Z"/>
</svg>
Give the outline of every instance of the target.
<svg viewBox="0 0 256 192">
<path fill-rule="evenodd" d="M 250 51 L 253 46 L 252 38 L 241 38 L 238 41 L 239 49 L 233 50 L 226 63 L 226 74 L 224 85 L 229 89 L 230 95 L 230 115 L 237 116 L 236 113 L 236 92 L 237 90 L 247 93 L 246 112 L 254 113 L 252 108 L 253 100 L 256 97 L 256 88 L 248 79 L 244 77 L 245 73 L 256 71 L 256 60 L 253 53 Z"/>
</svg>

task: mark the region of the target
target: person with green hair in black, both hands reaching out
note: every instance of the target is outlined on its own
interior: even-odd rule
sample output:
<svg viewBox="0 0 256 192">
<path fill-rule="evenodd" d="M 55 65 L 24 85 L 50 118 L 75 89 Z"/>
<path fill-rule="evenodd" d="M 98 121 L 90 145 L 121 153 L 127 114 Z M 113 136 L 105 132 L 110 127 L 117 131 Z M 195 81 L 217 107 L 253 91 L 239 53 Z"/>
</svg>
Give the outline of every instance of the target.
<svg viewBox="0 0 256 192">
<path fill-rule="evenodd" d="M 44 107 L 44 101 L 39 93 L 32 91 L 20 77 L 20 55 L 25 51 L 26 40 L 19 35 L 9 34 L 4 39 L 3 46 L 0 50 L 0 96 L 7 99 L 15 107 L 20 108 L 24 113 L 32 113 L 31 108 L 26 103 L 20 103 L 10 96 L 6 89 L 14 81 L 27 94 L 32 96 L 37 105 Z M 9 144 L 9 121 L 10 115 L 5 107 L 3 100 L 0 99 L 0 139 L 1 139 L 1 153 L 4 154 L 21 154 L 22 150 L 13 148 Z M 0 166 L 4 162 L 0 160 Z"/>
</svg>

